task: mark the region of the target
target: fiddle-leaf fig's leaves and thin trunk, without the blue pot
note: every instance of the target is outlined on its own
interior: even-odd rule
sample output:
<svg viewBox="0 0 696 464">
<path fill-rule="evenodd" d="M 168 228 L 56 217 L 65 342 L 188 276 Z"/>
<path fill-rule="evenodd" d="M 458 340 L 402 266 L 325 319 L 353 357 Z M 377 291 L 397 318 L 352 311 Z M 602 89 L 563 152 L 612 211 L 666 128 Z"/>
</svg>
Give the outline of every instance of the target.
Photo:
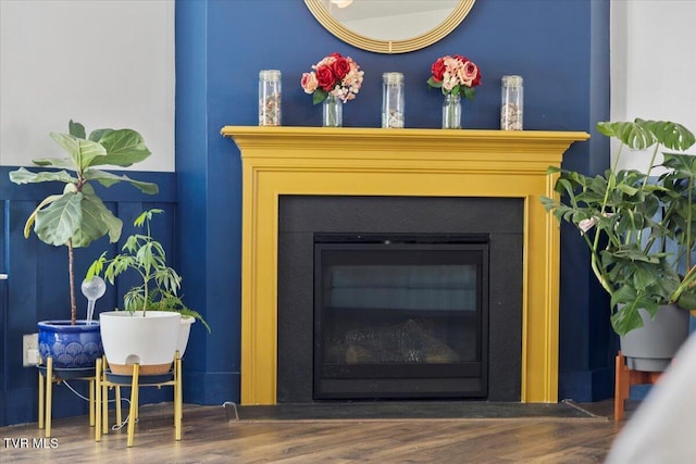
<svg viewBox="0 0 696 464">
<path fill-rule="evenodd" d="M 29 215 L 24 236 L 28 238 L 34 228 L 45 243 L 67 248 L 71 324 L 75 325 L 77 305 L 73 249 L 87 247 L 105 235 L 109 241 L 115 242 L 123 227 L 123 222 L 109 211 L 91 183 L 110 187 L 126 181 L 150 195 L 158 192 L 158 186 L 99 168 L 127 167 L 150 155 L 142 137 L 133 129 L 97 129 L 87 136 L 82 124 L 71 121 L 69 134 L 50 133 L 50 136 L 67 152 L 67 158 L 33 160 L 34 164 L 47 170 L 30 172 L 20 167 L 10 173 L 10 180 L 15 184 L 64 184 L 62 192 L 45 198 Z"/>
</svg>

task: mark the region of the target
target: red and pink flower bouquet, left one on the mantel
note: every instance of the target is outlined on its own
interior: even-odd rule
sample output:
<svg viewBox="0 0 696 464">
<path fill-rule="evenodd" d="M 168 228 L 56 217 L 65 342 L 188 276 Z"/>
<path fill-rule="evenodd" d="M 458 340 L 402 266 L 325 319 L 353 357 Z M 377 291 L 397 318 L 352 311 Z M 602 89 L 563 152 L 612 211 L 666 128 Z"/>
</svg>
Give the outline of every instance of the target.
<svg viewBox="0 0 696 464">
<path fill-rule="evenodd" d="M 300 85 L 304 93 L 312 93 L 314 104 L 331 95 L 344 103 L 356 98 L 362 85 L 360 66 L 350 57 L 332 53 L 312 66 L 311 73 L 302 73 Z"/>
</svg>

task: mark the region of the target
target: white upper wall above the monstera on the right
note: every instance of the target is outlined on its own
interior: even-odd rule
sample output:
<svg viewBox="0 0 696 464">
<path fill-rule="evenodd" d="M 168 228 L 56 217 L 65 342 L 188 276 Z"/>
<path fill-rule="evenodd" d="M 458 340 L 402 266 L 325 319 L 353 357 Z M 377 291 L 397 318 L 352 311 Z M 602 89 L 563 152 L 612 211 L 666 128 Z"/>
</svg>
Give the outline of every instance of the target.
<svg viewBox="0 0 696 464">
<path fill-rule="evenodd" d="M 612 121 L 667 120 L 696 133 L 694 27 L 693 0 L 611 0 Z M 648 162 L 644 152 L 622 154 L 619 167 Z"/>
</svg>

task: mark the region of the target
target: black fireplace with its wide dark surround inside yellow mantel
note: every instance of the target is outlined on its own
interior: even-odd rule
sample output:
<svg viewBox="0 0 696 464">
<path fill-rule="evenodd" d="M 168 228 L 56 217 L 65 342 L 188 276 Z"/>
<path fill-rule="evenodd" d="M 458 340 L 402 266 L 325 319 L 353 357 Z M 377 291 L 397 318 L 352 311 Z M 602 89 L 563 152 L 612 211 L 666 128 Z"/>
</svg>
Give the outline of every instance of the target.
<svg viewBox="0 0 696 464">
<path fill-rule="evenodd" d="M 281 196 L 277 402 L 520 401 L 523 227 L 515 198 Z"/>
</svg>

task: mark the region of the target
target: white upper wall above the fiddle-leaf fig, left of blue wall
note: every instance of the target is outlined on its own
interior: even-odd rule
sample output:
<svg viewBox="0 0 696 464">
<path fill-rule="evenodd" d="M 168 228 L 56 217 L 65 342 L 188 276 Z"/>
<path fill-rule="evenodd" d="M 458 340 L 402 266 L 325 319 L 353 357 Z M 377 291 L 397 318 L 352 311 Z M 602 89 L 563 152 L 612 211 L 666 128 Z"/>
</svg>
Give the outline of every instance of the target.
<svg viewBox="0 0 696 464">
<path fill-rule="evenodd" d="M 174 171 L 174 0 L 0 0 L 0 165 L 64 156 L 69 120 L 133 128 Z"/>
</svg>

